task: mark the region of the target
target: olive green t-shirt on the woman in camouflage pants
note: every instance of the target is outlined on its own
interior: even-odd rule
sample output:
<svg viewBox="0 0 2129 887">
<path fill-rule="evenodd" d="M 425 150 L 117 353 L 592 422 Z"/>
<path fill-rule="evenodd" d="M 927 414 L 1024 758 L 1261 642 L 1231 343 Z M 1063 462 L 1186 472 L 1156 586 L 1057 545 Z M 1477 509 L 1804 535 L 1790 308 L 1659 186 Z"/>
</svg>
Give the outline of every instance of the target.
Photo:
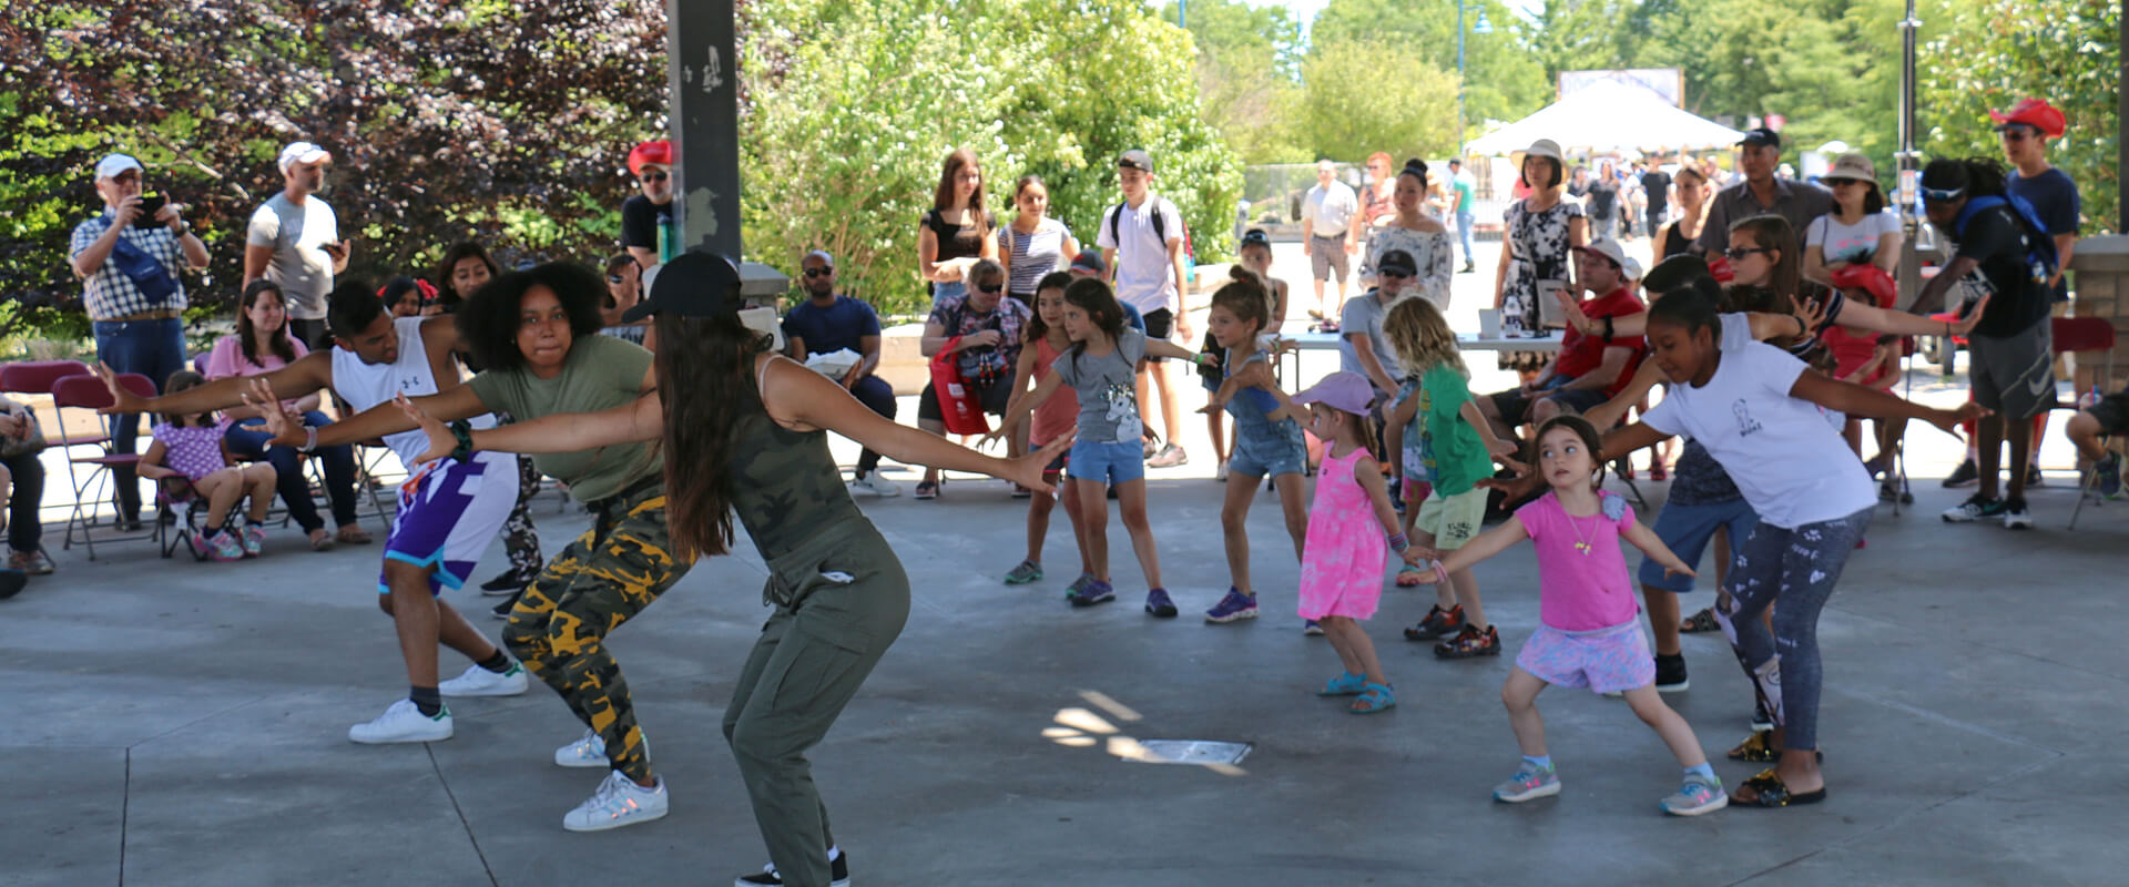
<svg viewBox="0 0 2129 887">
<path fill-rule="evenodd" d="M 651 353 L 613 336 L 579 336 L 568 347 L 562 374 L 539 379 L 530 368 L 488 370 L 466 385 L 490 411 L 532 421 L 554 413 L 598 413 L 630 404 L 641 396 Z M 662 472 L 658 449 L 647 442 L 588 449 L 581 453 L 537 453 L 541 474 L 560 479 L 577 502 L 603 500 L 628 489 L 651 472 Z"/>
</svg>

